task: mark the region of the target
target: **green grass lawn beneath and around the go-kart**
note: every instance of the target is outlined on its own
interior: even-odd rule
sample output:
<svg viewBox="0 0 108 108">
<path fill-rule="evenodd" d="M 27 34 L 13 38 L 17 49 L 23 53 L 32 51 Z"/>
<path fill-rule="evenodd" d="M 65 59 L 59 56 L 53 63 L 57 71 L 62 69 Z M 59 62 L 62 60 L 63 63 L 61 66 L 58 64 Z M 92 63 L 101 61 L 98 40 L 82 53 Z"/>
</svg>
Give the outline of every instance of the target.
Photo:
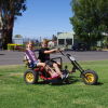
<svg viewBox="0 0 108 108">
<path fill-rule="evenodd" d="M 79 71 L 71 84 L 31 85 L 24 82 L 24 66 L 0 66 L 0 108 L 108 108 L 108 60 L 80 64 L 97 71 L 98 85 L 85 85 Z"/>
</svg>

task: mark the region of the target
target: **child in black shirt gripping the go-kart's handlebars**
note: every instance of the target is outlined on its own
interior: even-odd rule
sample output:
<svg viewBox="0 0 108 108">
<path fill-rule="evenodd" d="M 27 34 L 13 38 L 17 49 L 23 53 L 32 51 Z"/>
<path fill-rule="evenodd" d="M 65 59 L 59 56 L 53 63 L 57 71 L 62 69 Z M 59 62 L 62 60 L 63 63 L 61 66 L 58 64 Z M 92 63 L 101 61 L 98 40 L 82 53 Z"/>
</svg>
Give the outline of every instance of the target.
<svg viewBox="0 0 108 108">
<path fill-rule="evenodd" d="M 39 59 L 42 63 L 45 63 L 46 65 L 49 65 L 50 67 L 53 67 L 62 79 L 67 78 L 68 73 L 66 75 L 60 71 L 60 63 L 55 62 L 54 59 L 50 58 L 50 54 L 59 52 L 59 49 L 50 50 L 48 46 L 48 43 L 49 41 L 46 39 L 43 39 L 41 43 L 42 48 L 39 50 Z"/>
</svg>

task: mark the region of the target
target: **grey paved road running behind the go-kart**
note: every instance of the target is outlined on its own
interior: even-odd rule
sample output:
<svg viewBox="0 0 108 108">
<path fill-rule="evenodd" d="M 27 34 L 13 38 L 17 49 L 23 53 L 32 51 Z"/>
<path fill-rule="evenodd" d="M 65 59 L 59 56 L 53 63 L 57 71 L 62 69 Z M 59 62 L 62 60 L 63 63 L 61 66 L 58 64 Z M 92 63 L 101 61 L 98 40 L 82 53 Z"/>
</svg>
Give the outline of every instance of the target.
<svg viewBox="0 0 108 108">
<path fill-rule="evenodd" d="M 38 52 L 36 52 L 38 55 Z M 108 52 L 72 52 L 65 53 L 72 54 L 77 60 L 104 60 L 108 59 Z M 52 54 L 51 57 L 58 57 L 60 53 Z M 23 64 L 24 52 L 0 51 L 0 65 L 17 65 Z M 65 62 L 68 62 L 63 57 Z"/>
</svg>

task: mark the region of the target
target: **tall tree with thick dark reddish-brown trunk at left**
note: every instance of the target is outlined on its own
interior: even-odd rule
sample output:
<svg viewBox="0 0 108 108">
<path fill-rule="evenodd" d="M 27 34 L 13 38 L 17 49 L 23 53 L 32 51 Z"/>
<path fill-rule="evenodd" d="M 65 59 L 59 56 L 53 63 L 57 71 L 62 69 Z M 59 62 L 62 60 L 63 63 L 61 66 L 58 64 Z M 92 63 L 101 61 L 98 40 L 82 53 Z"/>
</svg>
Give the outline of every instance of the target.
<svg viewBox="0 0 108 108">
<path fill-rule="evenodd" d="M 0 15 L 2 19 L 2 43 L 6 49 L 12 43 L 13 27 L 16 16 L 22 16 L 26 10 L 26 0 L 0 0 Z"/>
</svg>

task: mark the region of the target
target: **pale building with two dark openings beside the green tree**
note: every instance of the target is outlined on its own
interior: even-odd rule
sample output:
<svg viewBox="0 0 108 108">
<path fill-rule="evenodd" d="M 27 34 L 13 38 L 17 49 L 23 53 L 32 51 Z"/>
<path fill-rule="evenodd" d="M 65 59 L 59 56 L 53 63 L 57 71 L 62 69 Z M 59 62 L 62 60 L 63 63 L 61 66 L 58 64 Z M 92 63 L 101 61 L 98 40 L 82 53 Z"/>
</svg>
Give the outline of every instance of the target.
<svg viewBox="0 0 108 108">
<path fill-rule="evenodd" d="M 57 32 L 57 45 L 71 49 L 73 45 L 73 32 Z"/>
</svg>

